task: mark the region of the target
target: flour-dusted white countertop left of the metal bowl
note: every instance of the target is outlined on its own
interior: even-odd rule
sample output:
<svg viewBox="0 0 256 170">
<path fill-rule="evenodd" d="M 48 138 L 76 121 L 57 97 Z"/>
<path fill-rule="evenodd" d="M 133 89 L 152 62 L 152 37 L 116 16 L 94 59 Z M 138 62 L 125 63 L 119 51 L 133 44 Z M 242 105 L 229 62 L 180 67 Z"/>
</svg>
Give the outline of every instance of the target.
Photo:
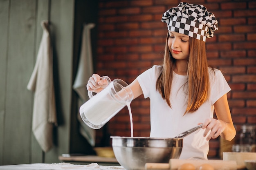
<svg viewBox="0 0 256 170">
<path fill-rule="evenodd" d="M 0 170 L 125 170 L 122 166 L 100 166 L 98 163 L 74 165 L 71 163 L 31 163 L 0 166 Z"/>
</svg>

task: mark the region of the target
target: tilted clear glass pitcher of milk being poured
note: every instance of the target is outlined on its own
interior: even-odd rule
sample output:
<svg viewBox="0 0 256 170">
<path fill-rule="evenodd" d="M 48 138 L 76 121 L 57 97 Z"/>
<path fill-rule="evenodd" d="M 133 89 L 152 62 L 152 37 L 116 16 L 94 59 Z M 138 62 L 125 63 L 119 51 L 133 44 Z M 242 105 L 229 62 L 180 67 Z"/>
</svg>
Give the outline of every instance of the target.
<svg viewBox="0 0 256 170">
<path fill-rule="evenodd" d="M 130 104 L 133 93 L 128 84 L 121 79 L 111 79 L 103 76 L 108 86 L 93 95 L 88 91 L 90 99 L 79 109 L 80 116 L 90 128 L 99 129 L 114 117 L 124 106 Z"/>
</svg>

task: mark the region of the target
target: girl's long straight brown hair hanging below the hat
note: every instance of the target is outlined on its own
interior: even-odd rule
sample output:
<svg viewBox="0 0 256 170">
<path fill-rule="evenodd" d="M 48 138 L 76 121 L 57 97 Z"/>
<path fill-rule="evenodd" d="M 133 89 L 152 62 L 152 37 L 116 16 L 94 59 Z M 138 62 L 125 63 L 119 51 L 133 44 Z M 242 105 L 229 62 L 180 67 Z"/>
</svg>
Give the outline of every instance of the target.
<svg viewBox="0 0 256 170">
<path fill-rule="evenodd" d="M 162 71 L 156 82 L 156 89 L 171 107 L 170 95 L 173 80 L 173 69 L 175 59 L 171 56 L 168 48 L 167 33 L 164 51 L 164 61 Z M 208 63 L 205 51 L 205 42 L 189 37 L 189 59 L 187 64 L 187 108 L 185 113 L 192 113 L 209 98 L 209 74 Z"/>
</svg>

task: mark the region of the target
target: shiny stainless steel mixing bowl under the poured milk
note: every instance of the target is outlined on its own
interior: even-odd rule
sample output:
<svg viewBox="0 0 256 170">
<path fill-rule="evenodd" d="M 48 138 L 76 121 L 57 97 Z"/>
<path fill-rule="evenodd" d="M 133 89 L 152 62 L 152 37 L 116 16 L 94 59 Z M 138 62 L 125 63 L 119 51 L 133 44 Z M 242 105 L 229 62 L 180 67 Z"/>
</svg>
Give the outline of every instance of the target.
<svg viewBox="0 0 256 170">
<path fill-rule="evenodd" d="M 183 138 L 111 137 L 117 161 L 126 170 L 145 170 L 146 163 L 179 158 Z"/>
</svg>

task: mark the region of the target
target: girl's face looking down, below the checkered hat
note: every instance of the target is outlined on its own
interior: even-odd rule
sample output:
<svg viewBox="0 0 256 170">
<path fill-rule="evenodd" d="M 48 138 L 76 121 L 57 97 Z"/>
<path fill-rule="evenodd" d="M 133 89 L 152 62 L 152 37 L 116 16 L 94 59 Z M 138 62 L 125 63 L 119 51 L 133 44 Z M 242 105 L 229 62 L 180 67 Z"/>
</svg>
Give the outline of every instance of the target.
<svg viewBox="0 0 256 170">
<path fill-rule="evenodd" d="M 168 47 L 176 60 L 187 60 L 189 57 L 189 36 L 169 31 Z"/>
</svg>

